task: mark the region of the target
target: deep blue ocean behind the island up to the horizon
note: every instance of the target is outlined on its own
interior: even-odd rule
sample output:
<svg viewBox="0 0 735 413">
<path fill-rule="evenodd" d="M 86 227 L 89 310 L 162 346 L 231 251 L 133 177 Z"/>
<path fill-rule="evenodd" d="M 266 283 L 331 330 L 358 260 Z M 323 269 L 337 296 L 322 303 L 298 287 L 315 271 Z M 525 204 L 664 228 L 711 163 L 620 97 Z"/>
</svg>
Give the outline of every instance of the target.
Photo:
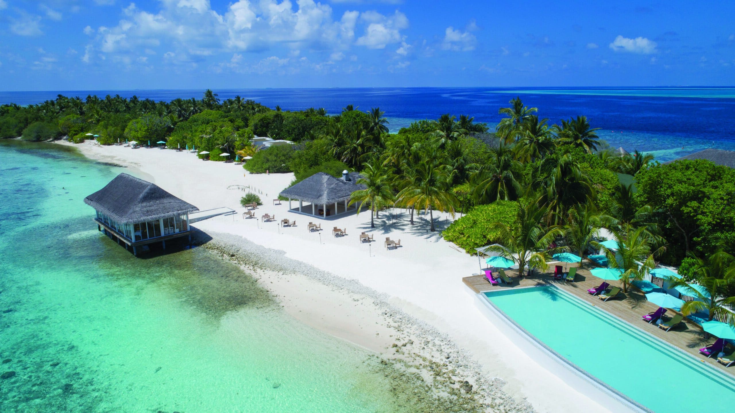
<svg viewBox="0 0 735 413">
<path fill-rule="evenodd" d="M 171 101 L 201 98 L 204 90 L 60 90 L 0 92 L 0 104 L 35 104 L 57 94 L 85 98 L 107 94 L 129 98 Z M 734 87 L 385 87 L 334 89 L 228 89 L 215 90 L 221 99 L 242 96 L 268 107 L 284 110 L 324 107 L 339 113 L 347 104 L 357 109 L 380 107 L 390 121 L 391 132 L 418 119 L 436 119 L 444 113 L 474 116 L 491 127 L 501 119 L 498 108 L 520 96 L 524 104 L 538 107 L 549 123 L 587 115 L 601 138 L 610 146 L 638 149 L 667 161 L 705 148 L 735 150 Z"/>
</svg>

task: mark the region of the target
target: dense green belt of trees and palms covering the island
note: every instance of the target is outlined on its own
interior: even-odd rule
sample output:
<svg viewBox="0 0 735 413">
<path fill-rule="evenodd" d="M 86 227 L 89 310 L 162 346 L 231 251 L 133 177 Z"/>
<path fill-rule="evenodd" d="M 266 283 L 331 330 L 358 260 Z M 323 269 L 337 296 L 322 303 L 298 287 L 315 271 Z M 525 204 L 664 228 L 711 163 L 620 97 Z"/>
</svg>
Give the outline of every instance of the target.
<svg viewBox="0 0 735 413">
<path fill-rule="evenodd" d="M 554 251 L 584 256 L 599 249 L 592 236 L 598 228 L 637 251 L 631 262 L 645 255 L 678 264 L 686 254 L 705 257 L 720 248 L 735 253 L 731 168 L 703 160 L 659 165 L 637 151 L 621 156 L 584 115 L 550 124 L 520 98 L 499 113 L 492 132 L 468 115 L 445 114 L 389 134 L 379 108 L 291 112 L 240 97 L 221 101 L 211 90 L 171 102 L 58 96 L 28 107 L 2 105 L 0 137 L 82 142 L 91 133 L 103 145 L 162 140 L 168 148 L 208 151 L 212 160 L 252 157 L 243 165 L 249 172 L 293 172 L 294 182 L 356 170 L 368 188 L 353 202 L 365 204 L 373 218 L 383 207 L 400 206 L 413 224 L 415 210 L 423 209 L 433 231 L 434 210 L 462 211 L 467 215 L 444 231 L 448 240 L 466 251 L 500 243 L 501 254 L 521 254 L 531 269 Z M 258 150 L 255 136 L 295 145 Z M 646 271 L 628 266 L 631 280 Z"/>
</svg>

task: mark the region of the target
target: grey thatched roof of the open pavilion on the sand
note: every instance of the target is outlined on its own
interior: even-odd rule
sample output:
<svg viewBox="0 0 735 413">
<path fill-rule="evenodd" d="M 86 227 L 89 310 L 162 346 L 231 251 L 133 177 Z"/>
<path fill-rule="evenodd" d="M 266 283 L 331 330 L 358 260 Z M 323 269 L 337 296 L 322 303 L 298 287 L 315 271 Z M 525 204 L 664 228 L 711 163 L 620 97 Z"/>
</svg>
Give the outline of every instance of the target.
<svg viewBox="0 0 735 413">
<path fill-rule="evenodd" d="M 356 184 L 359 173 L 349 173 L 350 181 L 334 178 L 329 173 L 318 172 L 292 187 L 284 189 L 280 195 L 300 199 L 311 204 L 334 204 L 349 199 L 356 190 L 364 190 L 365 185 Z"/>
</svg>

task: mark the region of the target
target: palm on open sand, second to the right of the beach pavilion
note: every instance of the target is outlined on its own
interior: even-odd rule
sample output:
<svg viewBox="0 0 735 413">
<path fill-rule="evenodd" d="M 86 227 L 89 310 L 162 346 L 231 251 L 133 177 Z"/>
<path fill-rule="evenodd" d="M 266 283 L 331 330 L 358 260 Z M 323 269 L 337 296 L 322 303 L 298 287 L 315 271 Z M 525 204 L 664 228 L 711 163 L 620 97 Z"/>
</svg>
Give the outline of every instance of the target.
<svg viewBox="0 0 735 413">
<path fill-rule="evenodd" d="M 447 165 L 438 165 L 431 159 L 420 162 L 401 192 L 398 193 L 399 203 L 413 208 L 429 211 L 431 232 L 434 227 L 434 208 L 441 212 L 449 211 L 454 217 L 454 209 L 459 201 L 449 190 L 451 187 L 451 173 Z"/>
</svg>

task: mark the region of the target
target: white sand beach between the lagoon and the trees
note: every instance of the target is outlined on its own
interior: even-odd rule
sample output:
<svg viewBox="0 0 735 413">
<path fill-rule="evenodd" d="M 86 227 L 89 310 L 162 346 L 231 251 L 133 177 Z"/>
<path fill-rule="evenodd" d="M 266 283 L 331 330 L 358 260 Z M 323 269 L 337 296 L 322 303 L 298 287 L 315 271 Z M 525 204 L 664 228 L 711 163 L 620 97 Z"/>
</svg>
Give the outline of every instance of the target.
<svg viewBox="0 0 735 413">
<path fill-rule="evenodd" d="M 293 179 L 291 173 L 251 174 L 240 165 L 203 162 L 186 151 L 133 150 L 99 146 L 95 142 L 62 144 L 78 148 L 85 156 L 101 162 L 136 168 L 140 171 L 136 174 L 201 210 L 220 206 L 235 209 L 237 215 L 193 224 L 218 243 L 228 242 L 227 237 L 219 234 L 232 234 L 231 237 L 283 251 L 295 266 L 302 262 L 309 268 L 351 281 L 350 285 L 362 284 L 374 291 L 345 293 L 329 280 L 320 282 L 319 276 L 301 276 L 298 267 L 287 274 L 257 272 L 260 282 L 279 298 L 284 308 L 309 326 L 386 354 L 395 351 L 390 346 L 396 338 L 415 337 L 408 330 L 435 328 L 448 339 L 432 343 L 433 347 L 416 342 L 412 351 L 420 353 L 431 347 L 451 352 L 451 359 L 459 357 L 463 361 L 458 364 L 480 370 L 487 381 L 506 381 L 503 392 L 517 401 L 525 398 L 538 412 L 627 409 L 537 351 L 525 338 L 478 306 L 473 293 L 462 284 L 462 277 L 478 272 L 477 258 L 443 240 L 440 231 L 429 232 L 423 215 L 417 216 L 416 224 L 411 226 L 406 211 L 388 210 L 381 212 L 374 229 L 370 228 L 370 213 L 365 211 L 323 220 L 289 212 L 287 201 L 273 204 L 272 200 Z M 240 197 L 245 193 L 228 190 L 231 185 L 249 186 L 259 194 L 263 205 L 255 209 L 256 218 L 243 218 L 245 208 L 240 206 Z M 293 204 L 296 205 L 298 201 Z M 275 215 L 276 220 L 262 222 L 260 217 L 264 214 Z M 282 218 L 296 220 L 297 226 L 279 227 Z M 452 220 L 448 214 L 438 212 L 434 212 L 434 218 L 438 230 Z M 323 230 L 309 232 L 309 221 L 321 223 Z M 333 226 L 346 229 L 347 235 L 334 237 Z M 375 241 L 360 243 L 362 231 L 373 234 Z M 400 239 L 401 247 L 387 250 L 383 246 L 385 237 Z M 389 307 L 376 305 L 376 301 L 390 304 L 390 308 L 400 309 L 421 323 L 402 325 L 386 314 Z"/>
</svg>

